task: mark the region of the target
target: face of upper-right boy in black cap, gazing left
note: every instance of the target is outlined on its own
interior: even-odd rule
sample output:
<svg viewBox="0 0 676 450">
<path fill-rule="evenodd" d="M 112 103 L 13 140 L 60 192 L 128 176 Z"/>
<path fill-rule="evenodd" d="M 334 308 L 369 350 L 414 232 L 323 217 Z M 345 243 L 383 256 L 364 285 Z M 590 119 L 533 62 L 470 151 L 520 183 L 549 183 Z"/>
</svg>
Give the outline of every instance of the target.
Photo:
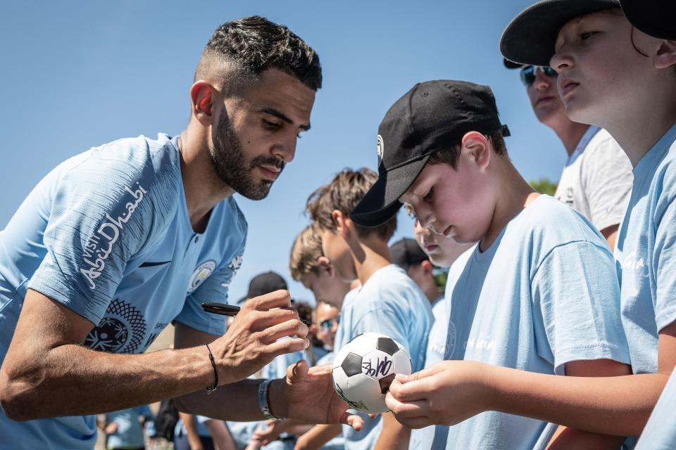
<svg viewBox="0 0 676 450">
<path fill-rule="evenodd" d="M 646 37 L 633 30 L 634 43 Z M 649 38 L 648 38 L 649 39 Z M 632 46 L 632 26 L 619 10 L 581 15 L 558 32 L 551 67 L 571 120 L 604 126 L 627 104 L 646 102 L 644 82 L 650 58 Z"/>
</svg>

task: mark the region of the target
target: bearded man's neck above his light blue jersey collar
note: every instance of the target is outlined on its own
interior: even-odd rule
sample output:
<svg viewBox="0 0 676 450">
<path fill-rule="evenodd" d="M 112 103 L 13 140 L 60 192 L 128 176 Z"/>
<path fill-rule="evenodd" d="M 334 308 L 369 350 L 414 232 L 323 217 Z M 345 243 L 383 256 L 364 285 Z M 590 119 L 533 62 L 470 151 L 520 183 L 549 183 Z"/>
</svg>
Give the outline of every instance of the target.
<svg viewBox="0 0 676 450">
<path fill-rule="evenodd" d="M 213 207 L 234 192 L 216 176 L 203 142 L 189 129 L 184 130 L 178 140 L 185 203 L 190 224 L 198 233 L 206 229 Z"/>
</svg>

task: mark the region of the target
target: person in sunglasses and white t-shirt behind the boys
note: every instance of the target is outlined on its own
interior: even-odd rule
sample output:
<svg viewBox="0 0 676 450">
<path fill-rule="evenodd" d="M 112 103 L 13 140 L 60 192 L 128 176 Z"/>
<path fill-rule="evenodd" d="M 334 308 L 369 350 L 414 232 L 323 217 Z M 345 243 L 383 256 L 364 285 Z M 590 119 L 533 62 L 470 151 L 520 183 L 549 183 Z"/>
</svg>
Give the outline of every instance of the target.
<svg viewBox="0 0 676 450">
<path fill-rule="evenodd" d="M 535 117 L 553 129 L 568 154 L 554 196 L 587 217 L 614 249 L 632 189 L 629 158 L 606 130 L 568 118 L 556 88 L 556 71 L 509 60 L 504 64 L 520 69 Z"/>
</svg>

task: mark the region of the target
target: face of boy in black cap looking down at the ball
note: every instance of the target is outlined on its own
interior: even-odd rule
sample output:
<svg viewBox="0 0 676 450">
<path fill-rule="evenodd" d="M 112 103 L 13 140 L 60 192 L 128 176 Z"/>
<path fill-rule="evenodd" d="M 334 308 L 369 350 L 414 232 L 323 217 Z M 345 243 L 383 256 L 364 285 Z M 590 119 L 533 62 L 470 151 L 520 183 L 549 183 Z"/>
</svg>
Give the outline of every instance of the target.
<svg viewBox="0 0 676 450">
<path fill-rule="evenodd" d="M 426 165 L 399 200 L 413 207 L 421 226 L 441 234 L 440 238 L 468 244 L 487 233 L 494 207 L 486 181 L 482 181 L 485 177 L 465 150 L 461 150 L 457 169 Z"/>
</svg>

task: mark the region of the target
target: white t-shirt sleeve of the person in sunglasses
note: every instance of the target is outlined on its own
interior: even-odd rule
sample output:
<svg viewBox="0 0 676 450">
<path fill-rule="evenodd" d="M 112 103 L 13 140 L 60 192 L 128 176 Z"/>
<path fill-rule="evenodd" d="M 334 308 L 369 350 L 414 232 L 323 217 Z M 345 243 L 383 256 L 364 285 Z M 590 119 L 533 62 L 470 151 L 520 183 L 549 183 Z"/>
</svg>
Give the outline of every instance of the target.
<svg viewBox="0 0 676 450">
<path fill-rule="evenodd" d="M 605 131 L 599 133 L 606 134 Z M 599 230 L 618 225 L 632 191 L 631 162 L 611 136 L 584 153 L 589 153 L 582 166 L 582 188 L 589 204 L 589 219 Z"/>
</svg>

